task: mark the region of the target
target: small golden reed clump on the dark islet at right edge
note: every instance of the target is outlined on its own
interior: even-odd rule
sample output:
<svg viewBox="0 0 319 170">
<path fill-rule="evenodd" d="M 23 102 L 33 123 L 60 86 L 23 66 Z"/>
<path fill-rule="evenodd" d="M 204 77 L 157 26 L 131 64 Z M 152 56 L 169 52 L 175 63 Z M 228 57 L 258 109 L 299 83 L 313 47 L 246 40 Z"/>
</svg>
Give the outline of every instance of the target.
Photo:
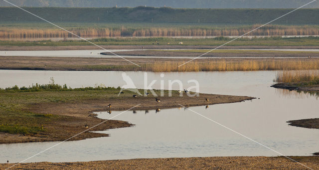
<svg viewBox="0 0 319 170">
<path fill-rule="evenodd" d="M 278 83 L 319 84 L 319 70 L 285 70 L 276 74 Z"/>
</svg>

